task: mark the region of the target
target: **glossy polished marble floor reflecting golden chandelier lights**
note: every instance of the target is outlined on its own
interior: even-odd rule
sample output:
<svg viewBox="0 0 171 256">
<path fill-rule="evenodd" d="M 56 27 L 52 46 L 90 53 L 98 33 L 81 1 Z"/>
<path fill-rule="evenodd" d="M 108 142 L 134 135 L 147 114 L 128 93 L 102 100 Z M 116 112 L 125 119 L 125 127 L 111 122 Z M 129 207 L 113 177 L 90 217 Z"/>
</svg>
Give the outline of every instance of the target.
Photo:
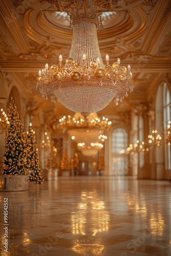
<svg viewBox="0 0 171 256">
<path fill-rule="evenodd" d="M 58 177 L 0 199 L 2 256 L 171 255 L 170 181 Z"/>
</svg>

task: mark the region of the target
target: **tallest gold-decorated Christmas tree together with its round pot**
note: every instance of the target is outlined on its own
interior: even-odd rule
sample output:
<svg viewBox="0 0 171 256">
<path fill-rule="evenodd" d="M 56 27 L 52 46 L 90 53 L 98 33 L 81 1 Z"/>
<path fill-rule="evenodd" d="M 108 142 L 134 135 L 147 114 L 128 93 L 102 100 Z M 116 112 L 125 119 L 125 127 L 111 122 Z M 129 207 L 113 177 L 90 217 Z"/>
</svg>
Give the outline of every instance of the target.
<svg viewBox="0 0 171 256">
<path fill-rule="evenodd" d="M 0 190 L 27 190 L 29 187 L 27 137 L 12 98 L 7 116 L 9 125 L 6 131 L 6 150 L 3 159 L 2 176 L 0 177 Z"/>
</svg>

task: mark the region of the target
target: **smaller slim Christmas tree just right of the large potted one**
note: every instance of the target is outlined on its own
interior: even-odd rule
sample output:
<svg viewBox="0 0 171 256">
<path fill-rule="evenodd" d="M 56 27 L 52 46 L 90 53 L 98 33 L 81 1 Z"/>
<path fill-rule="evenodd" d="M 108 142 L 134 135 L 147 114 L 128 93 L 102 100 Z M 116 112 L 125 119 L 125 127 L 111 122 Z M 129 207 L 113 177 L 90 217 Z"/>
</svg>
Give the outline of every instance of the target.
<svg viewBox="0 0 171 256">
<path fill-rule="evenodd" d="M 40 163 L 39 163 L 39 157 L 38 157 L 38 148 L 36 145 L 36 139 L 35 139 L 35 131 L 33 131 L 31 127 L 31 123 L 29 126 L 29 132 L 28 135 L 28 143 L 27 146 L 29 148 L 28 151 L 28 161 L 29 161 L 29 170 L 30 170 L 30 176 L 29 181 L 33 181 L 34 183 L 42 184 L 42 174 L 40 169 Z"/>
</svg>

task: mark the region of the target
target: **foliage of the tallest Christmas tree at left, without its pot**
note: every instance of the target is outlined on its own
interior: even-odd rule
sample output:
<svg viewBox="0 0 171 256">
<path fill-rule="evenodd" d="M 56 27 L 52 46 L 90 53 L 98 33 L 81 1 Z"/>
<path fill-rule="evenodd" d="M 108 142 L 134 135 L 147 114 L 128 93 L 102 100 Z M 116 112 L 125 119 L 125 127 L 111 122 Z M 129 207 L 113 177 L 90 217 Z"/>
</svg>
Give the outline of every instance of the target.
<svg viewBox="0 0 171 256">
<path fill-rule="evenodd" d="M 6 150 L 3 159 L 4 175 L 26 175 L 28 172 L 27 145 L 24 125 L 11 98 L 8 112 L 8 129 L 6 130 Z"/>
</svg>

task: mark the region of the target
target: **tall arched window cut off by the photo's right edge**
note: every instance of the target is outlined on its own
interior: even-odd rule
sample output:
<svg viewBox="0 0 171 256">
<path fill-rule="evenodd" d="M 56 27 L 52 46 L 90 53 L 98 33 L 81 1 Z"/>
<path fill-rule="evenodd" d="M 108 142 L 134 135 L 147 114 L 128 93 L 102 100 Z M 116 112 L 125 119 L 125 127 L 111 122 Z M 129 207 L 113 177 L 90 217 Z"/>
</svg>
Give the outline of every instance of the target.
<svg viewBox="0 0 171 256">
<path fill-rule="evenodd" d="M 163 86 L 163 118 L 164 118 L 164 136 L 167 134 L 167 124 L 171 121 L 171 97 L 168 86 L 164 83 Z M 170 145 L 165 144 L 165 169 L 171 169 L 171 150 Z"/>
</svg>

